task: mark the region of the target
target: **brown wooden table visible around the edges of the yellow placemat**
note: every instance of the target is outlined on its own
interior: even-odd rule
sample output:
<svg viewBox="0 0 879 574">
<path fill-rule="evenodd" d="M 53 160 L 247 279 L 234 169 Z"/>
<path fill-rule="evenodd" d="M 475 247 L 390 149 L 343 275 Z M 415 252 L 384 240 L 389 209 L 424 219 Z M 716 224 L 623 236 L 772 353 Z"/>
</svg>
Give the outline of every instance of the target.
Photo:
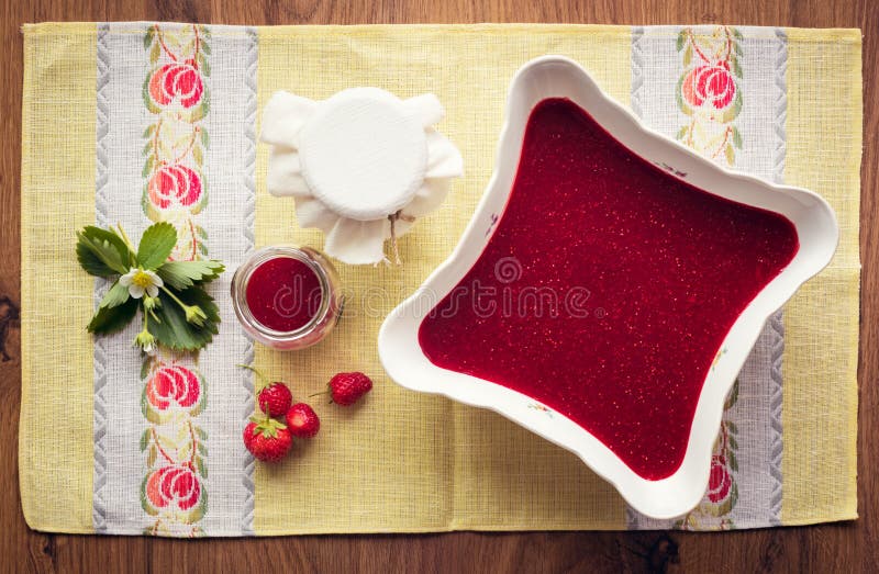
<svg viewBox="0 0 879 574">
<path fill-rule="evenodd" d="M 321 0 L 3 0 L 0 68 L 0 571 L 688 571 L 879 570 L 879 2 L 877 0 L 470 0 L 335 2 Z M 419 536 L 325 536 L 197 542 L 151 538 L 57 536 L 27 529 L 21 513 L 18 421 L 22 38 L 41 21 L 186 21 L 216 24 L 358 24 L 570 22 L 596 24 L 728 23 L 860 27 L 864 38 L 861 193 L 861 344 L 858 499 L 849 524 L 687 532 L 455 532 Z"/>
</svg>

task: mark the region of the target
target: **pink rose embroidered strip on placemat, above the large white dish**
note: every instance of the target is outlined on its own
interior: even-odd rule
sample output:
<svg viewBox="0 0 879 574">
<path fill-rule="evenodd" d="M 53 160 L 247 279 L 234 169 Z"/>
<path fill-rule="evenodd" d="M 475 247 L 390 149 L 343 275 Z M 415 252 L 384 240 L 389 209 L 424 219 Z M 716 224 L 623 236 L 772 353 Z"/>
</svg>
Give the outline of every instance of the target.
<svg viewBox="0 0 879 574">
<path fill-rule="evenodd" d="M 677 139 L 712 159 L 735 165 L 742 149 L 742 134 L 735 120 L 742 112 L 742 33 L 731 26 L 716 26 L 711 33 L 681 30 L 677 48 L 683 71 L 675 95 L 687 123 Z"/>
</svg>

